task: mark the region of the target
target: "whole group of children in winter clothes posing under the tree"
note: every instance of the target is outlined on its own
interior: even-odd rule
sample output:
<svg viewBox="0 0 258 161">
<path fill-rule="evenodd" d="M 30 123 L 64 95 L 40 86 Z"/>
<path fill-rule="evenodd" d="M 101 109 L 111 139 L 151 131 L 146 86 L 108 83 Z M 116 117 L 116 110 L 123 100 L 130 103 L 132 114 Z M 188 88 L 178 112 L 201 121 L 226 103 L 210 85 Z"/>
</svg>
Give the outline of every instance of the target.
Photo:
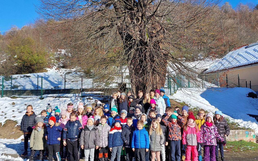
<svg viewBox="0 0 258 161">
<path fill-rule="evenodd" d="M 156 94 L 161 90 L 153 91 L 162 98 Z M 53 160 L 54 154 L 57 160 L 66 160 L 69 156 L 70 161 L 78 161 L 80 156 L 85 161 L 107 161 L 109 157 L 111 161 L 189 161 L 191 158 L 200 161 L 201 147 L 204 161 L 220 160 L 218 149 L 221 160 L 225 160 L 223 146 L 229 126 L 221 111 L 216 111 L 213 117 L 212 112 L 205 115 L 205 111 L 199 109 L 196 119 L 187 106 L 183 106 L 181 114 L 179 107 L 162 107 L 160 111 L 159 106 L 163 105 L 157 103 L 154 96 L 149 99 L 152 94 L 145 94 L 144 99 L 138 97 L 138 102 L 129 94 L 115 92 L 109 104 L 102 106 L 98 101 L 94 108 L 80 102 L 77 111 L 69 103 L 61 113 L 58 106 L 52 110 L 48 104 L 40 117 L 28 105 L 21 121 L 25 138 L 22 155 L 28 154 L 30 139 L 29 160 L 33 160 L 39 150 L 39 160 L 46 152 L 48 160 Z M 125 101 L 127 107 L 121 105 Z M 144 110 L 146 103 L 149 108 Z"/>
</svg>

